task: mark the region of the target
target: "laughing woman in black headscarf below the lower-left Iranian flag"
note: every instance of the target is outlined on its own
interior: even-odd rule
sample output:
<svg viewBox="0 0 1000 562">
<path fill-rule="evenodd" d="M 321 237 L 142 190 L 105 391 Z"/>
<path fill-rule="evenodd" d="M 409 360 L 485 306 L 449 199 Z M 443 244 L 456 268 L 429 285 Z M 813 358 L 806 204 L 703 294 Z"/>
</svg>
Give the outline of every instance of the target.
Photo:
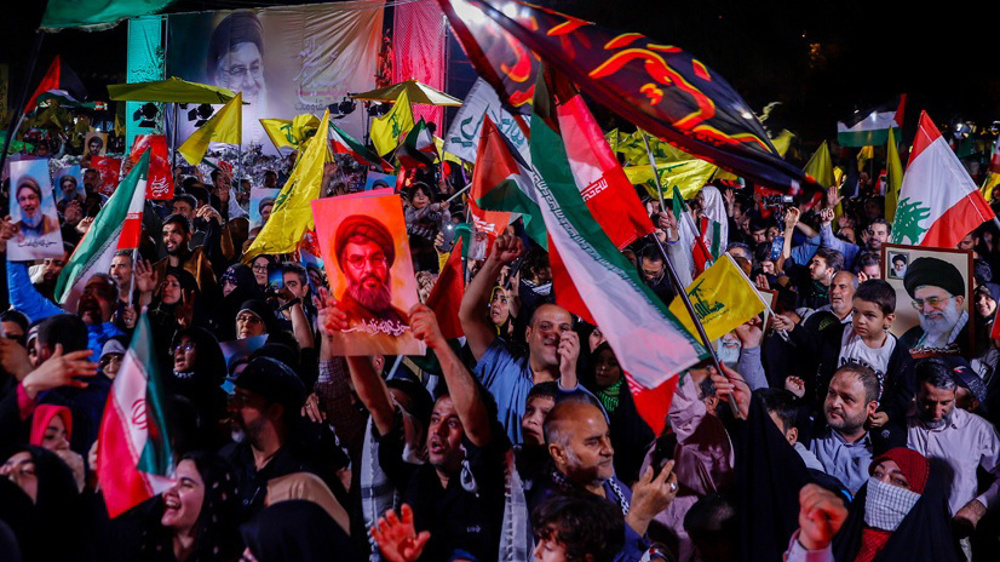
<svg viewBox="0 0 1000 562">
<path fill-rule="evenodd" d="M 229 464 L 215 453 L 191 453 L 177 463 L 174 477 L 174 486 L 156 500 L 137 559 L 231 562 L 238 558 L 236 478 Z"/>
</svg>

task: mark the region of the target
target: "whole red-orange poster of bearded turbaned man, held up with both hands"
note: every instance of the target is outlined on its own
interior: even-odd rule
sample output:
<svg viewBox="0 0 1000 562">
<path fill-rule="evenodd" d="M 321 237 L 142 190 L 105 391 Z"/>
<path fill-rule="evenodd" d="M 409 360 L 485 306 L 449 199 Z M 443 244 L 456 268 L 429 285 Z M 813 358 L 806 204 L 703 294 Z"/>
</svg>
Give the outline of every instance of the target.
<svg viewBox="0 0 1000 562">
<path fill-rule="evenodd" d="M 423 355 L 410 308 L 419 302 L 398 195 L 367 193 L 312 202 L 330 296 L 344 313 L 335 355 Z"/>
</svg>

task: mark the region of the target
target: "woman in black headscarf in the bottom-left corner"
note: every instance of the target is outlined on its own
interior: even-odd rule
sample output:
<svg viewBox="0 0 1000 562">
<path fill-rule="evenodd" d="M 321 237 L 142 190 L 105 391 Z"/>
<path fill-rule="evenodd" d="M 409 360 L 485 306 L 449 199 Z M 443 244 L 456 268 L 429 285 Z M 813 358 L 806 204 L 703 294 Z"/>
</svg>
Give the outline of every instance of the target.
<svg viewBox="0 0 1000 562">
<path fill-rule="evenodd" d="M 24 446 L 7 459 L 0 475 L 17 484 L 33 504 L 19 517 L 33 538 L 20 545 L 24 560 L 95 559 L 89 518 L 84 516 L 73 471 L 62 459 L 48 449 Z"/>
</svg>

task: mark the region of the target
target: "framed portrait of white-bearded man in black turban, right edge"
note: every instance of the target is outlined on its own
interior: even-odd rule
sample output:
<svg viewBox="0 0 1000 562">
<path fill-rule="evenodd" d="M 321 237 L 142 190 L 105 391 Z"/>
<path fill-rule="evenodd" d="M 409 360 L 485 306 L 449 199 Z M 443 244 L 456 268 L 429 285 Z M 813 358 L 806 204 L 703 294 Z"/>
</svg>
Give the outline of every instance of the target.
<svg viewBox="0 0 1000 562">
<path fill-rule="evenodd" d="M 896 290 L 890 331 L 913 355 L 972 349 L 972 252 L 885 244 L 882 268 Z"/>
</svg>

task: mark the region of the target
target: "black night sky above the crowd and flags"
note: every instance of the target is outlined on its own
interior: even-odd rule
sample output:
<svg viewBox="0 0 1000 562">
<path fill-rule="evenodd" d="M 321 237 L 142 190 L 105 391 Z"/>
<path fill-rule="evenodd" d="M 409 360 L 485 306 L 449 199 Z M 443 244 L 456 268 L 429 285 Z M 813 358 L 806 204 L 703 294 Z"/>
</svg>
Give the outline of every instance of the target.
<svg viewBox="0 0 1000 562">
<path fill-rule="evenodd" d="M 942 3 L 931 9 L 900 1 L 538 3 L 684 48 L 721 73 L 751 107 L 784 102 L 774 125 L 787 126 L 809 141 L 833 137 L 838 119 L 902 92 L 909 95 L 904 132 L 914 128 L 920 109 L 939 123 L 961 117 L 989 124 L 1000 118 L 997 39 L 990 26 L 975 24 L 996 19 L 967 4 Z M 12 97 L 44 5 L 20 4 L 21 13 L 0 22 L 0 62 L 11 64 Z M 264 4 L 274 3 L 181 0 L 171 11 Z M 956 9 L 949 12 L 952 6 Z M 59 53 L 92 96 L 100 97 L 103 84 L 124 79 L 125 38 L 125 25 L 101 33 L 48 35 L 35 80 Z"/>
</svg>

